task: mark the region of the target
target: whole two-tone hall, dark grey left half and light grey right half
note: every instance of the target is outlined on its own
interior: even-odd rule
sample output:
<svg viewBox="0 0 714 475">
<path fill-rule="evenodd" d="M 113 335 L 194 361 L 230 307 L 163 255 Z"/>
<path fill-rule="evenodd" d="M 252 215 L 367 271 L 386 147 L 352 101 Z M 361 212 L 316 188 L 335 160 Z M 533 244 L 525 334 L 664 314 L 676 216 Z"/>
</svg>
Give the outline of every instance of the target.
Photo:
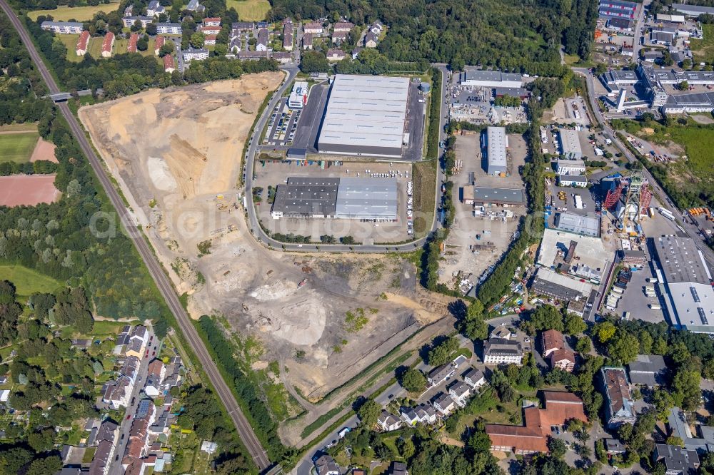
<svg viewBox="0 0 714 475">
<path fill-rule="evenodd" d="M 288 178 L 278 185 L 271 216 L 396 220 L 396 178 Z"/>
</svg>

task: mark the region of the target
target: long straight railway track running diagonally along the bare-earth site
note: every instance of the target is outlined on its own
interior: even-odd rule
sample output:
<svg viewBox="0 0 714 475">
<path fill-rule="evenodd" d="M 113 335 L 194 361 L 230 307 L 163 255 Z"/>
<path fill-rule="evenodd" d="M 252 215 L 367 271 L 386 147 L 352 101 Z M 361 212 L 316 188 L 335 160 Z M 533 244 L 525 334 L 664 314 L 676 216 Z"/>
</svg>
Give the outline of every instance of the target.
<svg viewBox="0 0 714 475">
<path fill-rule="evenodd" d="M 54 82 L 54 78 L 52 78 L 51 74 L 49 73 L 49 70 L 47 69 L 41 57 L 37 53 L 29 34 L 22 25 L 22 22 L 14 14 L 14 11 L 11 10 L 6 0 L 0 0 L 0 6 L 9 16 L 13 26 L 18 31 L 23 43 L 25 44 L 26 48 L 30 53 L 32 61 L 39 69 L 42 78 L 47 84 L 50 93 L 60 92 L 59 88 Z M 178 323 L 178 327 L 181 328 L 181 332 L 183 332 L 183 335 L 184 337 L 186 337 L 188 344 L 191 345 L 191 349 L 193 349 L 193 352 L 196 354 L 196 357 L 198 357 L 198 362 L 201 364 L 203 371 L 206 372 L 206 374 L 208 375 L 208 379 L 211 381 L 213 388 L 216 390 L 216 394 L 218 394 L 218 397 L 221 399 L 221 402 L 223 402 L 224 407 L 226 407 L 226 410 L 228 411 L 228 414 L 230 415 L 233 424 L 235 424 L 236 429 L 238 429 L 238 434 L 241 436 L 243 444 L 245 444 L 246 448 L 248 449 L 248 453 L 251 454 L 253 461 L 255 461 L 255 464 L 258 466 L 259 469 L 267 469 L 268 466 L 271 465 L 271 461 L 268 459 L 268 455 L 266 454 L 265 449 L 263 449 L 263 446 L 261 446 L 261 443 L 256 437 L 256 434 L 253 432 L 253 429 L 251 428 L 250 424 L 248 424 L 248 420 L 243 415 L 243 412 L 241 412 L 241 409 L 238 407 L 238 403 L 233 397 L 233 393 L 231 393 L 231 390 L 228 389 L 226 382 L 223 381 L 223 377 L 221 377 L 221 374 L 218 372 L 218 368 L 216 367 L 216 364 L 213 363 L 213 359 L 211 358 L 211 355 L 208 354 L 206 347 L 201 341 L 201 338 L 198 337 L 198 332 L 196 332 L 196 328 L 193 327 L 190 318 L 186 314 L 186 311 L 183 310 L 181 302 L 179 302 L 178 297 L 176 297 L 176 291 L 174 290 L 174 287 L 171 285 L 169 278 L 166 277 L 166 275 L 164 274 L 164 270 L 161 268 L 161 265 L 156 260 L 156 257 L 154 257 L 154 253 L 151 251 L 151 248 L 146 243 L 146 240 L 144 240 L 144 235 L 141 233 L 141 230 L 139 230 L 139 228 L 137 228 L 134 224 L 133 220 L 131 219 L 131 215 L 129 215 L 128 210 L 124 208 L 124 202 L 121 200 L 119 193 L 116 192 L 116 190 L 114 189 L 114 185 L 112 185 L 111 181 L 109 180 L 109 177 L 106 175 L 101 161 L 95 155 L 94 150 L 89 144 L 89 141 L 87 141 L 83 129 L 81 128 L 81 126 L 79 126 L 79 122 L 74 117 L 74 115 L 72 115 L 71 111 L 69 110 L 69 106 L 67 106 L 66 103 L 58 103 L 57 107 L 59 108 L 59 111 L 62 113 L 62 116 L 64 116 L 67 123 L 69 123 L 72 135 L 79 143 L 82 151 L 84 152 L 84 155 L 86 155 L 87 159 L 89 160 L 91 168 L 94 170 L 94 173 L 96 174 L 97 178 L 99 178 L 99 182 L 106 191 L 106 194 L 109 195 L 109 199 L 111 200 L 112 205 L 114 205 L 114 208 L 119 214 L 121 223 L 124 225 L 124 228 L 126 228 L 129 237 L 131 237 L 131 240 L 136 246 L 136 249 L 139 250 L 139 254 L 146 263 L 146 267 L 148 267 L 151 277 L 153 277 L 154 282 L 156 282 L 156 287 L 159 287 L 161 295 L 166 300 L 166 305 L 169 306 L 169 309 L 174 314 L 176 322 Z"/>
</svg>

